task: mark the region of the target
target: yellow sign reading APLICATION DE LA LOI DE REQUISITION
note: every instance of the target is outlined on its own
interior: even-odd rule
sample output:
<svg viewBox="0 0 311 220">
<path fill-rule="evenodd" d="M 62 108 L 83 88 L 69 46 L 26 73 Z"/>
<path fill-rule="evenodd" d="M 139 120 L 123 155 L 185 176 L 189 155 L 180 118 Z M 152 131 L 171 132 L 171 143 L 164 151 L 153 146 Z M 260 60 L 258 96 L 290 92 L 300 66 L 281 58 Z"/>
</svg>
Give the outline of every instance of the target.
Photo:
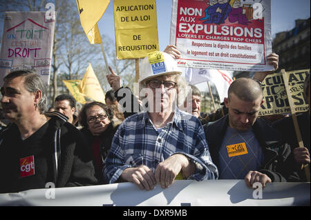
<svg viewBox="0 0 311 220">
<path fill-rule="evenodd" d="M 117 59 L 137 59 L 158 50 L 156 0 L 115 0 Z"/>
</svg>

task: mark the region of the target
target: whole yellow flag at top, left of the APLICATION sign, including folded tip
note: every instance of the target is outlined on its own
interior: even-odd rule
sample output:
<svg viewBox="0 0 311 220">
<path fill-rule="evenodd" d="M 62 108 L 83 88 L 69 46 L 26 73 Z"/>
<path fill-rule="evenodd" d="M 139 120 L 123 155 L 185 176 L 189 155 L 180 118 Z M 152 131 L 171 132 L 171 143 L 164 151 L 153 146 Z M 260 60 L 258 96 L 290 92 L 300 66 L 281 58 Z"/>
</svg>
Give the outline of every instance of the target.
<svg viewBox="0 0 311 220">
<path fill-rule="evenodd" d="M 76 0 L 82 28 L 90 43 L 102 43 L 97 22 L 109 6 L 110 0 Z"/>
</svg>

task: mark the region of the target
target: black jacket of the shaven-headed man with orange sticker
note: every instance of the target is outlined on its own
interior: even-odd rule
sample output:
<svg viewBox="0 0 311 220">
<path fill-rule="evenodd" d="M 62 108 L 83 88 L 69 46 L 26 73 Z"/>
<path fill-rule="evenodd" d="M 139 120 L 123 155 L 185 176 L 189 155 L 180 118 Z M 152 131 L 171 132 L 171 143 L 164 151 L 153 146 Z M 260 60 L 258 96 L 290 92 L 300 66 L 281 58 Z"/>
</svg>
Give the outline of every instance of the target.
<svg viewBox="0 0 311 220">
<path fill-rule="evenodd" d="M 219 148 L 223 137 L 225 137 L 228 123 L 229 117 L 226 115 L 215 123 L 203 126 L 211 159 L 216 166 L 219 166 Z M 252 128 L 256 139 L 263 148 L 264 155 L 263 164 L 257 171 L 267 174 L 274 182 L 287 181 L 287 178 L 293 173 L 292 168 L 289 168 L 285 163 L 290 154 L 290 145 L 283 143 L 281 134 L 268 126 L 262 119 L 257 119 Z"/>
</svg>

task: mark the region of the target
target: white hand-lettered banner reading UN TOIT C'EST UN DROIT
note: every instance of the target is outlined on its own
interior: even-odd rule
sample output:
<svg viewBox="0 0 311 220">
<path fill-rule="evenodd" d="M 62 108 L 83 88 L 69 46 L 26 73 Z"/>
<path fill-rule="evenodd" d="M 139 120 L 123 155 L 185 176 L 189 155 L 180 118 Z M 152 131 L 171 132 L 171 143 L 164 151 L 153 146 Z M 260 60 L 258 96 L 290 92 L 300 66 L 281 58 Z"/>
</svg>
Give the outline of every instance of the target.
<svg viewBox="0 0 311 220">
<path fill-rule="evenodd" d="M 0 52 L 0 83 L 14 70 L 33 70 L 46 82 L 55 29 L 55 12 L 6 12 Z"/>
</svg>

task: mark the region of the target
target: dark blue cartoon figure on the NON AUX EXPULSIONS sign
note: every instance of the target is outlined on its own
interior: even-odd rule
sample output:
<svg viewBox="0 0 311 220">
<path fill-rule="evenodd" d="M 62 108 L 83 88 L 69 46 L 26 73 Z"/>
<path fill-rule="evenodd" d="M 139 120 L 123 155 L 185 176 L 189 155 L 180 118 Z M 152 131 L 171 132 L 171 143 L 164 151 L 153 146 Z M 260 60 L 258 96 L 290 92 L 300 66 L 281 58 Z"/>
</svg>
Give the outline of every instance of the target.
<svg viewBox="0 0 311 220">
<path fill-rule="evenodd" d="M 203 23 L 225 23 L 225 20 L 231 12 L 230 1 L 232 0 L 218 0 L 218 3 L 214 6 L 210 6 L 207 10 L 210 19 L 208 21 L 204 21 Z"/>
</svg>

